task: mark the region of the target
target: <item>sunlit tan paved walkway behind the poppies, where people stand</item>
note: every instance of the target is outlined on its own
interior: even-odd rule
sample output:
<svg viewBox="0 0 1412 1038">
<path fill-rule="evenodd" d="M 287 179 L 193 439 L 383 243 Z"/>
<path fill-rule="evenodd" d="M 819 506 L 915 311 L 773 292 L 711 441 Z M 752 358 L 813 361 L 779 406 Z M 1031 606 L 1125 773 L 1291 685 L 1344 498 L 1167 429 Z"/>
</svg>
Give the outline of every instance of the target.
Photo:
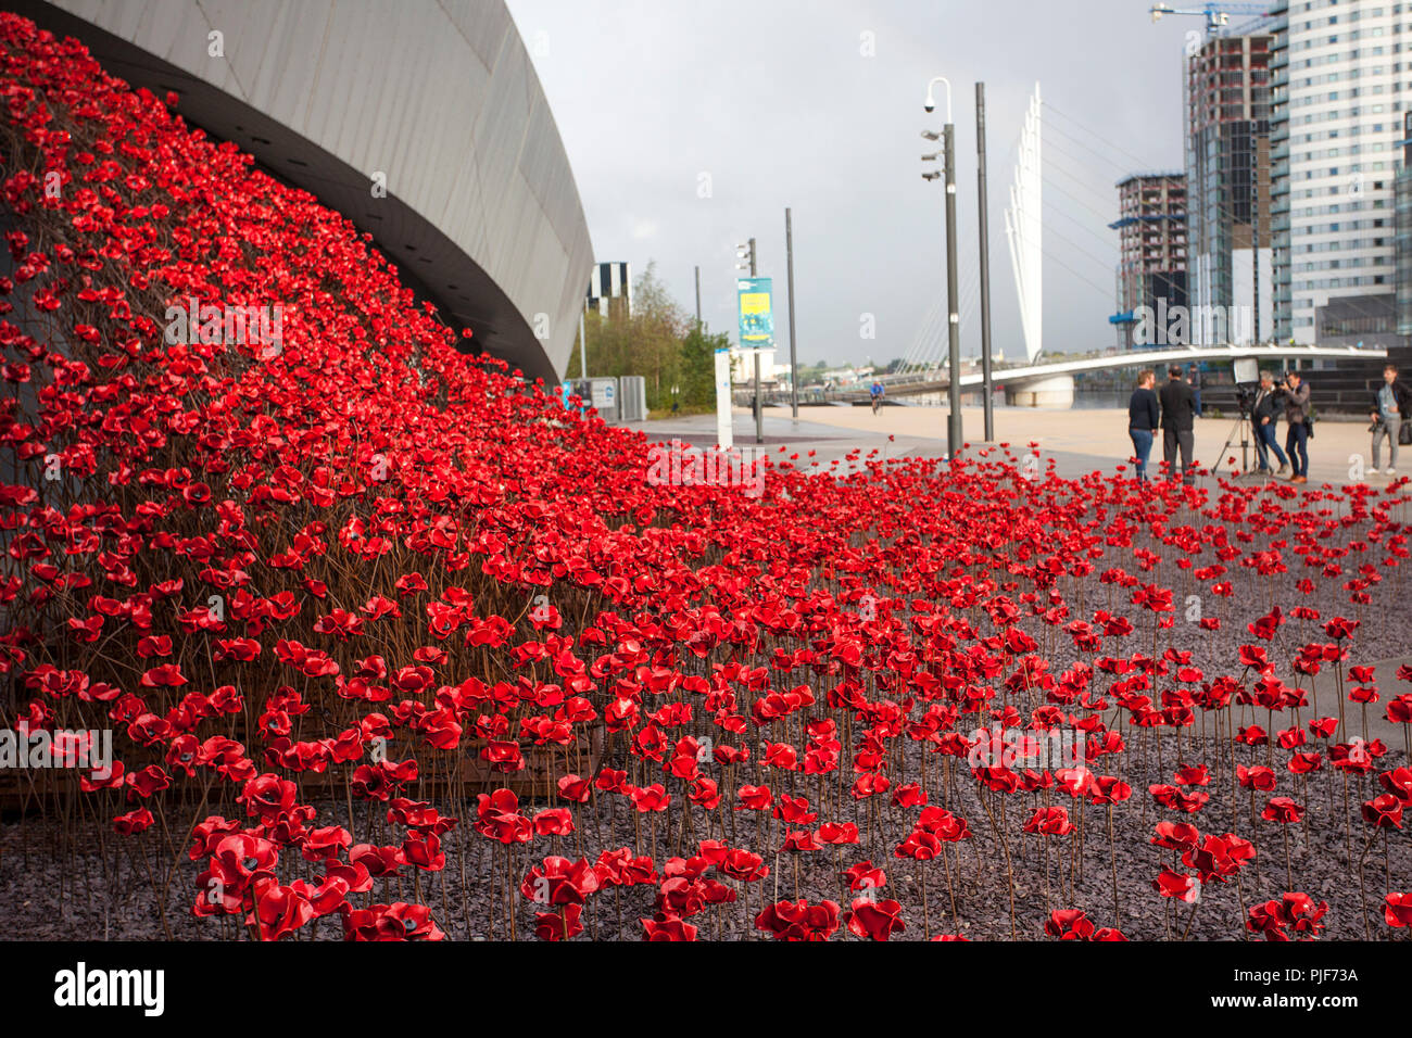
<svg viewBox="0 0 1412 1038">
<path fill-rule="evenodd" d="M 946 408 L 943 407 L 884 407 L 873 414 L 870 407 L 801 407 L 799 421 L 789 417 L 788 408 L 765 408 L 764 446 L 775 453 L 779 446 L 798 446 L 801 452 L 815 451 L 815 460 L 827 465 L 843 459 L 851 451 L 877 449 L 882 456 L 942 456 L 946 451 Z M 716 417 L 690 415 L 651 422 L 634 422 L 630 428 L 641 429 L 654 442 L 669 441 L 674 436 L 695 446 L 716 442 Z M 963 408 L 962 428 L 967 442 L 981 443 L 984 417 L 981 410 Z M 1234 429 L 1230 418 L 1199 418 L 1196 422 L 1196 460 L 1210 467 L 1219 453 L 1226 455 L 1221 473 L 1244 469 L 1240 442 L 1221 452 Z M 1279 439 L 1284 443 L 1284 424 Z M 1344 484 L 1354 482 L 1354 459 L 1363 466 L 1371 465 L 1365 422 L 1323 421 L 1315 426 L 1315 438 L 1309 442 L 1309 482 Z M 748 410 L 737 410 L 734 415 L 736 443 L 755 445 L 754 418 Z M 891 438 L 891 439 L 890 439 Z M 1127 465 L 1131 472 L 1132 443 L 1127 435 L 1127 411 L 1084 410 L 1049 411 L 1042 408 L 995 408 L 995 438 L 1010 443 L 1017 452 L 1034 442 L 1039 445 L 1039 456 L 1048 463 L 1052 458 L 1060 476 L 1073 479 L 1089 472 L 1117 472 L 1118 465 Z M 1387 445 L 1384 445 L 1384 451 Z M 789 452 L 792 453 L 792 451 Z M 1255 446 L 1251 443 L 1250 466 L 1255 466 Z M 1234 465 L 1228 460 L 1234 458 Z M 1152 462 L 1161 462 L 1162 443 L 1154 445 Z M 1384 456 L 1387 463 L 1387 456 Z M 1412 448 L 1402 449 L 1402 473 L 1412 473 Z M 1394 476 L 1392 479 L 1396 479 Z M 1385 486 L 1387 475 L 1365 476 L 1371 486 Z"/>
</svg>

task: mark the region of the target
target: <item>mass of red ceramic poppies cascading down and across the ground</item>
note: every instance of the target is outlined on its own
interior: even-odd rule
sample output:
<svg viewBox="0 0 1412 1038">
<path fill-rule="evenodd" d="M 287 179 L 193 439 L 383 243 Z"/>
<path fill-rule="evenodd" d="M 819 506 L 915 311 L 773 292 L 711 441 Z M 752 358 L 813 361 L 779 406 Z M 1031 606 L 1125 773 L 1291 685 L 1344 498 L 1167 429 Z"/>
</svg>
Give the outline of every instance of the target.
<svg viewBox="0 0 1412 1038">
<path fill-rule="evenodd" d="M 1375 839 L 1387 854 L 1401 832 L 1412 775 L 1346 713 L 1367 734 L 1381 698 L 1351 645 L 1401 585 L 1405 482 L 1027 479 L 1003 446 L 950 465 L 781 456 L 760 496 L 657 486 L 642 436 L 467 353 L 369 236 L 76 42 L 0 14 L 0 439 L 16 459 L 0 672 L 23 692 L 6 720 L 114 730 L 110 767 L 31 791 L 82 799 L 58 813 L 97 812 L 158 854 L 189 840 L 191 904 L 220 933 L 336 917 L 347 939 L 438 939 L 459 871 L 466 925 L 493 936 L 520 932 L 525 905 L 538 936 L 576 936 L 637 885 L 655 891 L 640 917 L 654 941 L 720 936 L 740 900 L 781 939 L 933 936 L 939 859 L 950 926 L 935 936 L 956 939 L 963 866 L 987 864 L 963 859 L 974 826 L 1004 863 L 1011 933 L 1029 867 L 1012 845 L 1031 837 L 1043 932 L 1121 939 L 1115 857 L 1106 928 L 1049 908 L 1051 857 L 1073 904 L 1084 811 L 1106 815 L 1111 850 L 1134 743 L 1175 760 L 1154 809 L 1197 816 L 1213 782 L 1251 798 L 1245 836 L 1234 811 L 1204 836 L 1156 825 L 1166 898 L 1238 881 L 1267 853 L 1260 821 L 1289 870 L 1315 771 L 1339 772 L 1346 798 L 1381 782 L 1367 835 L 1348 832 L 1360 884 Z M 280 349 L 172 342 L 162 316 L 186 299 L 282 308 Z M 1354 619 L 1309 604 L 1329 600 Z M 1228 620 L 1264 610 L 1250 644 L 1228 648 L 1220 602 Z M 1175 647 L 1183 603 L 1219 651 Z M 1322 671 L 1337 716 L 1305 723 Z M 1279 732 L 1276 713 L 1292 719 Z M 1406 732 L 1412 696 L 1385 716 Z M 1059 729 L 1080 758 L 1028 765 Z M 484 775 L 521 795 L 477 794 Z M 1257 821 L 1255 791 L 1281 787 Z M 620 812 L 634 846 L 614 846 Z M 463 818 L 490 849 L 470 874 Z M 818 869 L 801 890 L 801 863 L 830 847 L 839 901 L 810 887 Z M 846 866 L 849 847 L 863 853 Z M 921 877 L 905 912 L 878 895 L 888 847 Z M 171 871 L 148 878 L 164 911 Z M 1234 926 L 1315 936 L 1324 908 L 1286 878 L 1248 914 L 1243 895 Z M 1408 926 L 1412 894 L 1382 885 L 1387 926 Z"/>
</svg>

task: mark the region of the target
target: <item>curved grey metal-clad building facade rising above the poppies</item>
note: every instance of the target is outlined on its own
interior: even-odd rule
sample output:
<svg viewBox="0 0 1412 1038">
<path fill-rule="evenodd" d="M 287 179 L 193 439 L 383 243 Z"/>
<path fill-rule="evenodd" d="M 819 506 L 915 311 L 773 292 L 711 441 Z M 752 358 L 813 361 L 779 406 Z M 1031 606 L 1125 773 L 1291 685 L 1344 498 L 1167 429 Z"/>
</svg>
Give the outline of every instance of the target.
<svg viewBox="0 0 1412 1038">
<path fill-rule="evenodd" d="M 373 234 L 446 322 L 563 374 L 593 247 L 504 0 L 11 0 Z"/>
</svg>

